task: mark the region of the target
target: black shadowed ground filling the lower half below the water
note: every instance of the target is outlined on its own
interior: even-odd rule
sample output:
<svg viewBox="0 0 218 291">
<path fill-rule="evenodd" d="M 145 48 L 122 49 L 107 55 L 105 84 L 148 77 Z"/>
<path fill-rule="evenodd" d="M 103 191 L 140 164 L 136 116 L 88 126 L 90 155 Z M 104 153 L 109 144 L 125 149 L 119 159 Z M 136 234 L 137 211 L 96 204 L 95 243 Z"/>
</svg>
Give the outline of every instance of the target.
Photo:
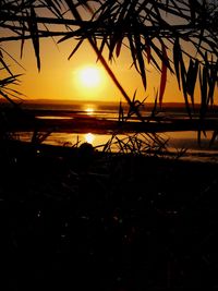
<svg viewBox="0 0 218 291">
<path fill-rule="evenodd" d="M 1 290 L 218 289 L 218 165 L 0 153 Z"/>
</svg>

